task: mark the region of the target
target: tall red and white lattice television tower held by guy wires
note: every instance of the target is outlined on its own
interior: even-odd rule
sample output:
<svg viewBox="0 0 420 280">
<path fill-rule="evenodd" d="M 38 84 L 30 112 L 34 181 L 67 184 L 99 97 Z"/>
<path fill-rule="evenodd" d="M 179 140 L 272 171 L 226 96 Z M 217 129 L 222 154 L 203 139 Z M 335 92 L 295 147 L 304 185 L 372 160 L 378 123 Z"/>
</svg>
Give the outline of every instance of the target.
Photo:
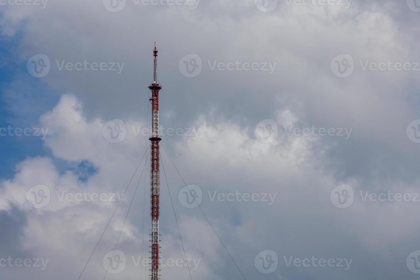
<svg viewBox="0 0 420 280">
<path fill-rule="evenodd" d="M 159 275 L 159 210 L 160 210 L 160 170 L 159 170 L 159 91 L 162 86 L 157 83 L 157 45 L 153 49 L 153 83 L 148 86 L 152 91 L 152 137 L 150 144 L 150 215 L 152 217 L 152 273 L 150 280 L 160 280 Z"/>
</svg>

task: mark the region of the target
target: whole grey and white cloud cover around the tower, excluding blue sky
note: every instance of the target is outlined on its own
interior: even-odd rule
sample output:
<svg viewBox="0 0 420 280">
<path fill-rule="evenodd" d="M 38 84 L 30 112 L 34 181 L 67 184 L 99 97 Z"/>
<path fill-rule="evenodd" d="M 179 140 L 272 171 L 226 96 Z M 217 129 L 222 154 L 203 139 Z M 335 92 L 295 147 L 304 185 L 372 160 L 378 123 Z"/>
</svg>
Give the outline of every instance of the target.
<svg viewBox="0 0 420 280">
<path fill-rule="evenodd" d="M 131 126 L 148 124 L 142 104 L 147 101 L 144 86 L 151 81 L 150 49 L 156 40 L 162 48 L 161 123 L 201 128 L 197 139 L 168 137 L 163 145 L 186 182 L 202 188 L 203 210 L 248 279 L 415 277 L 405 258 L 420 248 L 413 220 L 416 202 L 362 201 L 359 191 L 416 192 L 419 153 L 405 129 L 418 118 L 417 72 L 362 71 L 359 60 L 419 61 L 418 36 L 413 36 L 418 15 L 404 1 L 353 1 L 349 10 L 281 3 L 272 13 L 260 12 L 253 2 L 202 1 L 192 10 L 134 6 L 129 1 L 121 13 L 110 13 L 101 1 L 76 0 L 50 1 L 44 10 L 0 11 L 2 34 L 21 35 L 18 56 L 26 60 L 47 54 L 52 70 L 42 81 L 59 94 L 73 92 L 36 120 L 50 128 L 44 142 L 51 156 L 22 161 L 14 177 L 0 187 L 0 209 L 17 205 L 28 218 L 24 240 L 16 246 L 50 258 L 48 269 L 33 274 L 34 270 L 7 268 L 0 273 L 10 278 L 30 274 L 33 279 L 56 279 L 63 272 L 68 279 L 78 277 L 116 202 L 58 201 L 55 191 L 123 192 L 147 147 L 147 137 L 135 136 Z M 186 79 L 178 71 L 179 59 L 188 53 L 203 60 L 204 70 L 196 79 Z M 346 79 L 330 70 L 331 59 L 341 53 L 351 54 L 356 63 Z M 58 71 L 55 60 L 126 65 L 117 76 Z M 210 71 L 207 60 L 278 65 L 269 76 Z M 123 119 L 127 127 L 126 138 L 115 144 L 102 134 L 104 124 L 114 118 Z M 354 130 L 346 141 L 281 132 L 276 141 L 264 144 L 255 139 L 253 129 L 268 118 L 277 121 L 280 131 L 283 124 Z M 185 209 L 177 201 L 183 183 L 162 154 L 187 255 L 202 258 L 193 279 L 241 279 L 199 210 Z M 81 161 L 97 168 L 87 181 L 79 180 L 77 170 L 63 167 Z M 120 241 L 119 248 L 128 256 L 142 254 L 141 240 L 148 241 L 147 226 L 142 236 L 143 213 L 138 207 L 147 178 L 141 183 Z M 28 190 L 38 184 L 48 186 L 52 194 L 43 209 L 33 209 L 26 201 Z M 330 192 L 341 184 L 349 184 L 356 194 L 348 209 L 338 209 L 330 201 Z M 105 272 L 102 257 L 113 249 L 133 191 L 131 186 L 92 257 L 86 279 Z M 272 205 L 211 201 L 208 192 L 214 191 L 269 192 L 276 200 Z M 162 193 L 163 255 L 182 257 L 163 180 Z M 281 263 L 273 275 L 261 275 L 254 267 L 255 256 L 265 249 L 279 255 Z M 354 261 L 346 273 L 286 267 L 283 262 L 283 256 L 312 255 Z M 138 275 L 139 268 L 129 266 L 123 274 L 107 277 Z M 163 275 L 188 277 L 184 268 L 165 268 Z"/>
</svg>

